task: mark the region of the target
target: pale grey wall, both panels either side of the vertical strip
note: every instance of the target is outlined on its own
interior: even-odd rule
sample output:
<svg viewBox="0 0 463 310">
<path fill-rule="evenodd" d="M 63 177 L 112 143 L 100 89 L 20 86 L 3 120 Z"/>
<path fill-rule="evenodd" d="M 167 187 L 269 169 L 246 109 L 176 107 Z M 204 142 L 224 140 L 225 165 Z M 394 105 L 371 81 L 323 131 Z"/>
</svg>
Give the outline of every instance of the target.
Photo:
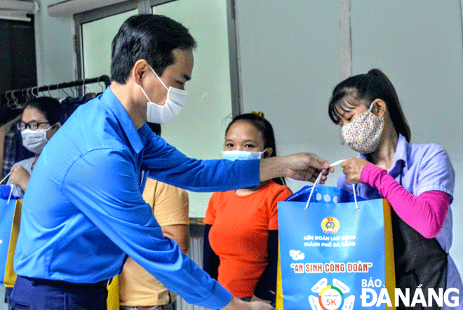
<svg viewBox="0 0 463 310">
<path fill-rule="evenodd" d="M 312 151 L 333 162 L 340 145 L 328 100 L 340 81 L 339 1 L 236 1 L 243 111 L 271 121 L 279 154 Z M 353 74 L 391 79 L 412 142 L 441 144 L 456 172 L 450 251 L 463 276 L 462 15 L 453 1 L 351 1 Z M 337 175 L 338 171 L 335 173 Z M 289 182 L 298 190 L 307 183 Z M 335 185 L 335 176 L 328 183 Z"/>
</svg>

